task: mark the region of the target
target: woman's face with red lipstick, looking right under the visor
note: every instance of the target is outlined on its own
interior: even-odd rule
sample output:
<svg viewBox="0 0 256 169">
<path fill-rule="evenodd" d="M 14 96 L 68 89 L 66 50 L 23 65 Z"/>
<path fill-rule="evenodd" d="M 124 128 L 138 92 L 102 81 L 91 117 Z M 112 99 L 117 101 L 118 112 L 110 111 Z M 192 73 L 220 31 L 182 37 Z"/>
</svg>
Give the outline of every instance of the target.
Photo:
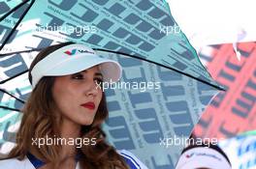
<svg viewBox="0 0 256 169">
<path fill-rule="evenodd" d="M 62 116 L 79 125 L 91 125 L 102 99 L 97 86 L 103 76 L 98 66 L 55 78 L 52 96 Z"/>
</svg>

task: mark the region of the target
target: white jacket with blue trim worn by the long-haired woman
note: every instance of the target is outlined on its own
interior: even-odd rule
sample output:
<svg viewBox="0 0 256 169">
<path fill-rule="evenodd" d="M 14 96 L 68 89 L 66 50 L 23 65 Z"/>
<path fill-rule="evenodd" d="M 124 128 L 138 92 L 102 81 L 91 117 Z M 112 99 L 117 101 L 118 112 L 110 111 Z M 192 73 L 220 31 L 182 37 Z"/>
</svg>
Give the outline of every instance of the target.
<svg viewBox="0 0 256 169">
<path fill-rule="evenodd" d="M 135 155 L 132 153 L 122 150 L 117 151 L 119 155 L 124 157 L 126 163 L 130 166 L 131 169 L 147 169 L 147 167 L 142 163 Z M 39 166 L 39 159 L 37 158 L 28 158 L 27 156 L 23 160 L 18 160 L 16 158 L 0 160 L 0 169 L 37 169 Z M 37 167 L 39 166 L 39 167 Z M 80 169 L 79 163 L 77 164 L 76 169 Z"/>
</svg>

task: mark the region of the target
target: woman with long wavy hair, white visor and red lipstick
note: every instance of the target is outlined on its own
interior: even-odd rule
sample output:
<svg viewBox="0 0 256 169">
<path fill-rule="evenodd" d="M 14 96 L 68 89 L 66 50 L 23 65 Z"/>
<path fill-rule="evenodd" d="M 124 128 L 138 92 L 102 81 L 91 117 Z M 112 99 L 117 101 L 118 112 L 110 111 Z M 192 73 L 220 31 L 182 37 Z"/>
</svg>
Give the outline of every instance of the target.
<svg viewBox="0 0 256 169">
<path fill-rule="evenodd" d="M 33 91 L 22 110 L 16 147 L 0 168 L 146 168 L 131 153 L 116 152 L 101 128 L 109 113 L 101 84 L 120 76 L 119 64 L 82 44 L 40 52 L 29 69 Z"/>
</svg>

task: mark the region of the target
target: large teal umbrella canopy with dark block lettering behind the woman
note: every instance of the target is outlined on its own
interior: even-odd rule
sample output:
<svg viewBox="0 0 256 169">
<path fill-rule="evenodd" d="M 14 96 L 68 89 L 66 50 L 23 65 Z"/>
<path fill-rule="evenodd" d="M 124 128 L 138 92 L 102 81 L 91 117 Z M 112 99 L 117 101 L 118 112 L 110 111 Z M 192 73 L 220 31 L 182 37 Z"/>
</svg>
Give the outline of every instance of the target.
<svg viewBox="0 0 256 169">
<path fill-rule="evenodd" d="M 133 86 L 106 90 L 110 118 L 104 128 L 112 145 L 138 155 L 149 168 L 174 168 L 185 145 L 171 139 L 188 137 L 208 101 L 223 89 L 177 27 L 164 2 L 37 0 L 20 5 L 0 22 L 2 153 L 15 142 L 22 116 L 17 109 L 31 92 L 26 74 L 31 61 L 38 50 L 71 41 L 118 61 L 120 82 Z"/>
</svg>

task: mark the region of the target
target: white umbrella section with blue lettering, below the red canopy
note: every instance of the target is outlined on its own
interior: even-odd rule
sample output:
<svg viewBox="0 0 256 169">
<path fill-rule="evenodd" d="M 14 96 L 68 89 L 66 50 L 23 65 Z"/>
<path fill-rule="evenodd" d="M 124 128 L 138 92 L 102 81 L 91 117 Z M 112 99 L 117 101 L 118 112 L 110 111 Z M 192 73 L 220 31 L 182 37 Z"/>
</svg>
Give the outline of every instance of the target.
<svg viewBox="0 0 256 169">
<path fill-rule="evenodd" d="M 229 156 L 234 169 L 253 169 L 256 167 L 256 131 L 249 131 L 219 143 Z"/>
</svg>

